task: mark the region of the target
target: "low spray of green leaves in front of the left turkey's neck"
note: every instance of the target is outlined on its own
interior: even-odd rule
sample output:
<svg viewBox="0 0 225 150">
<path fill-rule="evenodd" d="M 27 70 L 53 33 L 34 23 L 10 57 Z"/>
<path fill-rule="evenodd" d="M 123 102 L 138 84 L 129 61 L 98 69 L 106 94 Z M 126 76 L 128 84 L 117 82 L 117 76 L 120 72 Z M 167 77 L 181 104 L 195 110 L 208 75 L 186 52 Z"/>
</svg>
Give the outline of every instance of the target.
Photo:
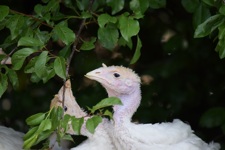
<svg viewBox="0 0 225 150">
<path fill-rule="evenodd" d="M 43 144 L 43 148 L 48 148 L 48 138 L 53 133 L 56 133 L 56 141 L 59 145 L 62 140 L 73 141 L 71 133 L 80 135 L 83 124 L 85 124 L 86 129 L 90 133 L 94 134 L 96 127 L 102 122 L 103 117 L 112 118 L 112 113 L 108 110 L 105 110 L 104 113 L 94 113 L 96 111 L 102 112 L 103 108 L 121 104 L 120 99 L 116 97 L 105 98 L 92 108 L 89 108 L 91 112 L 89 116 L 82 118 L 76 118 L 76 116 L 64 114 L 62 107 L 53 107 L 46 113 L 34 114 L 26 119 L 26 123 L 30 126 L 30 129 L 24 136 L 23 148 L 30 149 L 43 141 L 46 141 Z M 71 132 L 71 130 L 73 132 Z"/>
</svg>

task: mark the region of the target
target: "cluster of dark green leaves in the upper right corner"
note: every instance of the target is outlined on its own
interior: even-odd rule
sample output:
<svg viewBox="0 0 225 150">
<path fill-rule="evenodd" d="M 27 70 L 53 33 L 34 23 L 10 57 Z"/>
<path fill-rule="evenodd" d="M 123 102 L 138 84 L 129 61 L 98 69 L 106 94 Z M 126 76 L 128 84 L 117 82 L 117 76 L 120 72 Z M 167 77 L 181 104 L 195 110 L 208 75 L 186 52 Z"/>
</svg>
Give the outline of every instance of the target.
<svg viewBox="0 0 225 150">
<path fill-rule="evenodd" d="M 225 5 L 224 1 L 182 0 L 185 9 L 194 13 L 193 22 L 196 27 L 194 37 L 211 36 L 217 41 L 215 50 L 222 59 L 225 57 Z M 213 10 L 213 11 L 212 11 Z M 213 13 L 212 13 L 213 12 Z"/>
</svg>

